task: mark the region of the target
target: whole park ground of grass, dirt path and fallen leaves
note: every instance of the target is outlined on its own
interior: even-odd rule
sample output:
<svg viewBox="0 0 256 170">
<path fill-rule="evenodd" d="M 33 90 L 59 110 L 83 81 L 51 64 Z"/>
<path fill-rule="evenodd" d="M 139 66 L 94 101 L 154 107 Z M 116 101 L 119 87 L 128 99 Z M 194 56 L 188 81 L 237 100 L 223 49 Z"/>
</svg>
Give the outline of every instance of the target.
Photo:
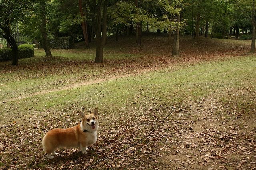
<svg viewBox="0 0 256 170">
<path fill-rule="evenodd" d="M 182 37 L 172 58 L 167 36 L 144 36 L 142 47 L 110 38 L 104 63 L 83 45 L 0 63 L 0 169 L 256 169 L 250 41 Z M 94 107 L 100 128 L 88 154 L 59 149 L 48 160 L 44 134 Z"/>
</svg>

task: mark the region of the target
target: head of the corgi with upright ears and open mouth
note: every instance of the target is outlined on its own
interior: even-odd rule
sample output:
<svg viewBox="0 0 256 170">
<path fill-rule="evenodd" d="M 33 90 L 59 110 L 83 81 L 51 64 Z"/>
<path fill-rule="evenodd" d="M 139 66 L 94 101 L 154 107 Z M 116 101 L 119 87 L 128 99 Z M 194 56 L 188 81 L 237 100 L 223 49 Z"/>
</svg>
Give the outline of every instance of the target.
<svg viewBox="0 0 256 170">
<path fill-rule="evenodd" d="M 81 128 L 83 130 L 88 130 L 89 132 L 94 132 L 98 129 L 98 109 L 95 108 L 90 115 L 85 115 L 84 112 L 79 112 L 80 117 L 82 118 Z"/>
</svg>

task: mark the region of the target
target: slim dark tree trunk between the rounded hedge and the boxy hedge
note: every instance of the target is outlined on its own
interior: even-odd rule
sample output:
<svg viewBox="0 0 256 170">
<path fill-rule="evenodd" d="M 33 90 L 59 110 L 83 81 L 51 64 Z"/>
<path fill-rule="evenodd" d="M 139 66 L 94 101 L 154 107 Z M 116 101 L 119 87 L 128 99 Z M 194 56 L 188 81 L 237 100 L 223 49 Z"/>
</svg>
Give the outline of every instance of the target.
<svg viewBox="0 0 256 170">
<path fill-rule="evenodd" d="M 42 26 L 41 26 L 41 33 L 42 33 L 42 43 L 45 51 L 46 56 L 52 56 L 48 40 L 47 40 L 47 34 L 46 34 L 46 1 L 41 1 L 41 16 L 42 16 Z"/>
</svg>

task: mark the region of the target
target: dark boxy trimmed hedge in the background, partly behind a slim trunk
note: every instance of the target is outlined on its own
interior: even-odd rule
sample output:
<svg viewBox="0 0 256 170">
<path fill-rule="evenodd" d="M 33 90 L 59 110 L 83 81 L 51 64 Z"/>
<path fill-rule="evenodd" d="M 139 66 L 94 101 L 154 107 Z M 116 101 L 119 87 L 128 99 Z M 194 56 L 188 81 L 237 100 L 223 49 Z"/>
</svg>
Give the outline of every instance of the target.
<svg viewBox="0 0 256 170">
<path fill-rule="evenodd" d="M 40 48 L 43 48 L 42 40 L 36 40 L 36 47 L 38 47 L 38 43 Z M 72 48 L 72 37 L 58 37 L 48 39 L 48 44 L 50 48 Z"/>
</svg>

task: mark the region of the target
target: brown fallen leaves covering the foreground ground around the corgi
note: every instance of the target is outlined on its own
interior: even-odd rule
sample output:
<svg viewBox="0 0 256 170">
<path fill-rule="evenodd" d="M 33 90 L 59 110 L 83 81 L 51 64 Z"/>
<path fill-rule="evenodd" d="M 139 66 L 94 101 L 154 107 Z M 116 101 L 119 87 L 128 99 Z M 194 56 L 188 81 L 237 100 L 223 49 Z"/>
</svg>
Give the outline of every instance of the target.
<svg viewBox="0 0 256 170">
<path fill-rule="evenodd" d="M 72 120 L 76 113 L 15 123 L 15 128 L 0 129 L 0 169 L 256 169 L 256 95 L 249 93 L 246 98 L 251 103 L 244 105 L 249 106 L 247 110 L 237 103 L 223 104 L 215 96 L 178 106 L 154 104 L 129 112 L 102 111 L 98 142 L 88 147 L 88 154 L 78 148 L 59 149 L 53 160 L 42 151 L 42 136 L 57 125 L 76 125 L 80 121 L 78 116 Z M 241 96 L 230 95 L 230 101 Z M 110 117 L 112 114 L 118 116 Z M 143 136 L 136 145 L 114 154 Z M 106 159 L 96 162 L 102 158 Z"/>
</svg>

